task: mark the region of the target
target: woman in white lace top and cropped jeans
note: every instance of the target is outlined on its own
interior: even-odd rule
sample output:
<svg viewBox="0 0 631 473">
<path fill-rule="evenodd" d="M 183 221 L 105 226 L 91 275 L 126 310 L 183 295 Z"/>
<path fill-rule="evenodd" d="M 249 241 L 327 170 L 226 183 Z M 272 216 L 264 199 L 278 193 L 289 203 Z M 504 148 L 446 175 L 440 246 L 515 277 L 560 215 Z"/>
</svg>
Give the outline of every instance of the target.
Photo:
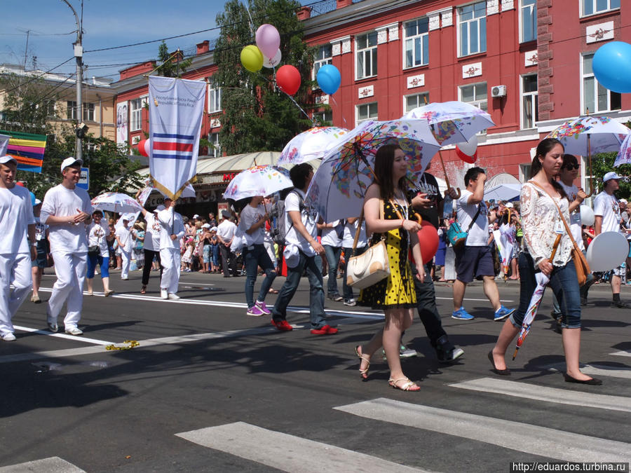
<svg viewBox="0 0 631 473">
<path fill-rule="evenodd" d="M 569 224 L 569 200 L 562 186 L 555 181 L 563 163 L 563 145 L 557 139 L 543 139 L 532 160 L 531 180 L 522 186 L 521 209 L 524 231 L 524 252 L 520 255 L 520 307 L 504 323 L 497 343 L 489 352 L 493 371 L 508 375 L 504 355 L 508 345 L 522 327 L 524 315 L 536 288 L 535 270 L 550 277 L 548 285 L 562 309 L 562 340 L 565 352 L 565 381 L 599 385 L 602 381 L 581 373 L 578 355 L 581 347 L 581 297 L 576 268 L 571 257 L 572 242 L 557 210 Z M 555 205 L 556 204 L 556 205 Z M 554 259 L 552 247 L 558 233 L 562 238 Z"/>
</svg>

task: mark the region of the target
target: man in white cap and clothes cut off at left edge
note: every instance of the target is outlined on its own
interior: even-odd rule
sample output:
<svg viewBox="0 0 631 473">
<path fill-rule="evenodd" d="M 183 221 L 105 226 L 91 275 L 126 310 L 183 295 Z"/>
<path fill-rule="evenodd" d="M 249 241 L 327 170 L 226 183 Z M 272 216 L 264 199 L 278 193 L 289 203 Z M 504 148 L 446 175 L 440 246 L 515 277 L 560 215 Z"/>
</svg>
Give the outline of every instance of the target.
<svg viewBox="0 0 631 473">
<path fill-rule="evenodd" d="M 27 188 L 15 185 L 17 172 L 18 161 L 0 156 L 0 338 L 4 341 L 15 340 L 11 319 L 31 289 L 31 261 L 37 257 L 31 196 Z"/>
</svg>

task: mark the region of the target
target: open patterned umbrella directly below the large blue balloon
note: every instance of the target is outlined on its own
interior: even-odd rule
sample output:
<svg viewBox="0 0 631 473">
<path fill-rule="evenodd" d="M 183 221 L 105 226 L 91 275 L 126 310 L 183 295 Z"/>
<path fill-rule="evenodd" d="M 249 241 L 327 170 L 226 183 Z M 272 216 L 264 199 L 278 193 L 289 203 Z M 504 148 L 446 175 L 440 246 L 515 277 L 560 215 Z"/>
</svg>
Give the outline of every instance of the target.
<svg viewBox="0 0 631 473">
<path fill-rule="evenodd" d="M 555 128 L 546 138 L 558 139 L 568 154 L 587 156 L 591 175 L 592 153 L 619 151 L 620 145 L 629 133 L 629 128 L 608 116 L 580 116 Z M 589 196 L 592 193 L 593 180 L 590 181 Z"/>
</svg>

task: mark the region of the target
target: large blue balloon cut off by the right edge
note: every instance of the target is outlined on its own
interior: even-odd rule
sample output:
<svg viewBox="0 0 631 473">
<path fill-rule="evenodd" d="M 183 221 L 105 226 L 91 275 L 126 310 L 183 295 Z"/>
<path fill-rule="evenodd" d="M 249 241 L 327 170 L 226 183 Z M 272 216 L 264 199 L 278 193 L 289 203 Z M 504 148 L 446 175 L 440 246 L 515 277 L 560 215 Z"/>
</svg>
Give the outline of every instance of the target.
<svg viewBox="0 0 631 473">
<path fill-rule="evenodd" d="M 592 62 L 596 80 L 613 92 L 631 92 L 631 44 L 611 41 L 596 51 Z"/>
</svg>

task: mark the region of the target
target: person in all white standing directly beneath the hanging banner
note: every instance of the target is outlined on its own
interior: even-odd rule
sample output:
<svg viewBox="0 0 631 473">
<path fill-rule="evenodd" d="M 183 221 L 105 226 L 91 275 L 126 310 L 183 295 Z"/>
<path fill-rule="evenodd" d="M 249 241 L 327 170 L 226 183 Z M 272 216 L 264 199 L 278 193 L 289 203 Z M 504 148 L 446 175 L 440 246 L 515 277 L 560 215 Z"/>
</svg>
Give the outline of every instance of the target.
<svg viewBox="0 0 631 473">
<path fill-rule="evenodd" d="M 182 215 L 175 212 L 175 200 L 164 199 L 165 210 L 158 212 L 158 221 L 163 231 L 160 235 L 160 261 L 164 268 L 160 281 L 162 299 L 177 301 L 177 285 L 179 284 L 179 239 L 184 236 Z"/>
</svg>

